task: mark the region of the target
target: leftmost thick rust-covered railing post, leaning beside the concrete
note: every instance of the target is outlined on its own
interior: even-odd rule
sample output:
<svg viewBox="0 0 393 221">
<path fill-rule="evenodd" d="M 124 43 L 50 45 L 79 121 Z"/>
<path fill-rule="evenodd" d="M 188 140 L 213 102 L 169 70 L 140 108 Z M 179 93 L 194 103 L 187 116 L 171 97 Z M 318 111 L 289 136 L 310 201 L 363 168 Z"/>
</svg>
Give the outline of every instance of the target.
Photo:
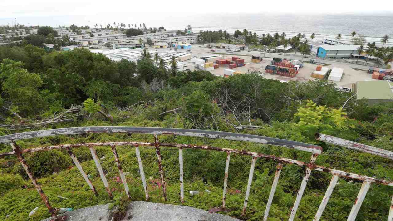
<svg viewBox="0 0 393 221">
<path fill-rule="evenodd" d="M 37 192 L 40 194 L 40 197 L 42 201 L 44 201 L 45 206 L 48 208 L 49 212 L 51 213 L 52 216 L 57 217 L 57 213 L 59 210 L 53 208 L 48 200 L 48 197 L 45 195 L 44 191 L 42 190 L 40 184 L 37 182 L 37 179 L 35 179 L 33 173 L 31 172 L 31 169 L 29 165 L 27 164 L 26 160 L 24 159 L 22 155 L 22 151 L 20 150 L 20 147 L 17 145 L 17 143 L 12 142 L 11 144 L 12 149 L 15 151 L 15 155 L 17 155 L 19 162 L 22 164 L 24 170 L 28 174 L 31 182 L 33 183 L 35 189 Z"/>
</svg>

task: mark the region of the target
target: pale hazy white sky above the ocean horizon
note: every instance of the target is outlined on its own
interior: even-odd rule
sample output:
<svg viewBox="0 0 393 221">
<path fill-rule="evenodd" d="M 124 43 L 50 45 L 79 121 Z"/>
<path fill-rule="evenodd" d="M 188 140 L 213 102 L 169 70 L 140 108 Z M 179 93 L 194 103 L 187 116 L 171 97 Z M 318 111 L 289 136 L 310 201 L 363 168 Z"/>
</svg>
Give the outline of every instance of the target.
<svg viewBox="0 0 393 221">
<path fill-rule="evenodd" d="M 250 4 L 248 4 L 250 2 Z M 251 3 L 252 2 L 252 3 Z M 324 3 L 325 2 L 325 3 Z M 279 7 L 277 4 L 283 7 Z M 0 18 L 47 17 L 62 15 L 99 15 L 124 18 L 149 17 L 163 19 L 171 15 L 211 13 L 378 13 L 393 12 L 392 0 L 353 1 L 353 0 L 281 0 L 281 1 L 108 1 L 95 0 L 84 2 L 76 0 L 2 0 Z M 203 19 L 203 18 L 202 18 Z"/>
</svg>

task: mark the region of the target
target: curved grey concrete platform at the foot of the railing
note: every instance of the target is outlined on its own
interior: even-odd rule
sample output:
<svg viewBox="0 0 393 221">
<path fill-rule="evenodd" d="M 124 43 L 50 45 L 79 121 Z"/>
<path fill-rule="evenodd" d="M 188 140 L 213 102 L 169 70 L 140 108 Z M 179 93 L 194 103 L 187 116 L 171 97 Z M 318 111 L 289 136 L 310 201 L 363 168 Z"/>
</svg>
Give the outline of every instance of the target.
<svg viewBox="0 0 393 221">
<path fill-rule="evenodd" d="M 109 204 L 90 206 L 66 212 L 67 221 L 109 221 Z M 49 221 L 50 218 L 42 221 Z M 240 221 L 230 216 L 211 213 L 189 206 L 133 201 L 122 221 Z"/>
</svg>

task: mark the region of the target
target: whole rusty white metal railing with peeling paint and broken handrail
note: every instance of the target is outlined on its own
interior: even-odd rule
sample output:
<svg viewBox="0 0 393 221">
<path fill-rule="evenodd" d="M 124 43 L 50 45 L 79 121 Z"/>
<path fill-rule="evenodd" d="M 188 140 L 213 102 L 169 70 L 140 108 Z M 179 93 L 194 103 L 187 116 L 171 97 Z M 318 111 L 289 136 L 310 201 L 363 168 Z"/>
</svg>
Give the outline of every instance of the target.
<svg viewBox="0 0 393 221">
<path fill-rule="evenodd" d="M 56 135 L 67 135 L 67 134 L 68 135 L 85 134 L 85 133 L 145 133 L 145 134 L 153 134 L 154 142 L 95 142 L 95 143 L 83 143 L 83 144 L 62 144 L 62 145 L 53 145 L 53 146 L 46 146 L 46 147 L 35 147 L 35 148 L 23 149 L 23 150 L 20 149 L 20 147 L 16 143 L 17 140 L 22 140 L 22 139 L 39 138 L 39 137 L 56 136 Z M 299 160 L 293 160 L 293 159 L 289 159 L 289 158 L 276 157 L 273 155 L 266 155 L 263 153 L 256 153 L 256 152 L 237 150 L 237 149 L 231 149 L 231 148 L 218 148 L 218 147 L 211 147 L 208 145 L 160 143 L 158 140 L 158 135 L 160 135 L 160 134 L 196 136 L 196 137 L 207 137 L 207 138 L 221 138 L 221 139 L 226 139 L 226 140 L 238 140 L 238 141 L 255 142 L 255 143 L 260 143 L 260 144 L 277 145 L 277 146 L 297 149 L 297 150 L 301 150 L 301 151 L 307 151 L 307 152 L 312 153 L 312 156 L 310 158 L 310 162 L 306 163 L 306 162 L 302 162 Z M 326 134 L 316 134 L 316 139 L 323 141 L 323 142 L 331 143 L 331 144 L 341 145 L 343 147 L 347 147 L 350 149 L 356 149 L 358 151 L 371 153 L 374 155 L 378 155 L 380 157 L 393 159 L 393 152 L 386 151 L 384 149 L 378 149 L 376 147 L 371 147 L 371 146 L 367 146 L 364 144 L 359 144 L 356 142 L 343 140 L 341 138 L 336 138 L 336 137 L 329 136 Z M 73 127 L 73 128 L 43 130 L 43 131 L 32 131 L 32 132 L 16 133 L 16 134 L 9 134 L 6 136 L 0 136 L 0 144 L 2 144 L 2 143 L 9 143 L 11 145 L 13 151 L 9 152 L 9 153 L 0 153 L 0 157 L 15 155 L 18 158 L 18 160 L 21 162 L 23 168 L 25 169 L 29 178 L 33 182 L 36 190 L 39 192 L 40 197 L 44 201 L 45 205 L 48 207 L 48 209 L 53 217 L 57 217 L 59 210 L 56 208 L 53 208 L 50 205 L 50 203 L 48 201 L 48 197 L 46 197 L 45 193 L 42 191 L 40 185 L 38 184 L 36 178 L 34 177 L 33 173 L 31 172 L 28 164 L 26 163 L 26 160 L 24 160 L 24 157 L 23 157 L 24 153 L 48 151 L 48 150 L 52 150 L 52 149 L 66 149 L 66 151 L 68 152 L 68 154 L 72 158 L 75 166 L 78 168 L 78 170 L 82 174 L 83 178 L 88 183 L 90 189 L 94 192 L 95 195 L 97 195 L 98 193 L 95 190 L 94 185 L 92 184 L 91 180 L 86 175 L 86 173 L 83 171 L 81 164 L 79 163 L 78 159 L 75 157 L 75 155 L 72 152 L 72 148 L 88 147 L 90 149 L 90 152 L 91 152 L 92 157 L 94 159 L 97 170 L 99 171 L 101 180 L 104 183 L 105 189 L 107 190 L 109 197 L 112 198 L 112 192 L 110 191 L 108 181 L 105 177 L 105 174 L 103 173 L 103 169 L 102 169 L 101 164 L 98 160 L 97 154 L 95 153 L 94 147 L 95 146 L 110 146 L 111 147 L 112 152 L 115 157 L 116 165 L 119 170 L 119 175 L 121 177 L 125 192 L 128 197 L 130 197 L 129 188 L 127 185 L 127 180 L 125 179 L 125 175 L 123 173 L 123 169 L 121 167 L 121 162 L 119 160 L 119 156 L 118 156 L 116 147 L 117 146 L 124 146 L 124 145 L 134 147 L 135 152 L 136 152 L 136 157 L 138 158 L 138 166 L 139 166 L 141 180 L 143 183 L 143 189 L 145 192 L 145 198 L 148 199 L 149 192 L 147 190 L 147 183 L 146 183 L 145 174 L 143 171 L 143 165 L 142 165 L 139 147 L 140 146 L 155 147 L 157 159 L 158 159 L 158 169 L 160 172 L 160 177 L 161 177 L 161 182 L 162 182 L 162 192 L 163 192 L 164 200 L 167 201 L 166 183 L 165 183 L 164 170 L 162 167 L 162 156 L 160 153 L 160 147 L 177 147 L 179 149 L 179 165 L 180 165 L 180 200 L 182 203 L 184 203 L 183 149 L 189 148 L 189 149 L 205 149 L 205 150 L 213 150 L 213 151 L 222 151 L 222 152 L 227 153 L 226 164 L 225 164 L 224 188 L 223 188 L 223 194 L 222 194 L 222 205 L 219 208 L 212 208 L 211 210 L 209 210 L 209 212 L 226 211 L 226 187 L 227 187 L 227 182 L 228 182 L 228 169 L 229 169 L 229 163 L 230 163 L 230 155 L 231 154 L 248 155 L 248 156 L 251 156 L 252 159 L 251 159 L 251 167 L 250 167 L 250 173 L 249 173 L 249 177 L 248 177 L 248 183 L 247 183 L 247 187 L 246 187 L 244 205 L 242 208 L 242 215 L 245 215 L 245 212 L 247 209 L 248 197 L 250 195 L 250 189 L 251 189 L 251 185 L 252 185 L 253 173 L 254 173 L 256 160 L 258 158 L 272 159 L 272 160 L 277 161 L 278 165 L 277 165 L 277 169 L 275 171 L 275 176 L 274 176 L 272 188 L 270 190 L 270 195 L 269 195 L 269 198 L 268 198 L 268 201 L 266 204 L 266 209 L 264 212 L 264 219 L 263 219 L 264 221 L 267 220 L 267 217 L 269 215 L 270 206 L 272 205 L 275 189 L 277 187 L 277 183 L 279 181 L 281 169 L 283 168 L 284 164 L 295 164 L 295 165 L 298 165 L 301 167 L 305 167 L 305 175 L 303 177 L 303 180 L 300 185 L 300 189 L 299 189 L 298 194 L 296 196 L 294 206 L 292 207 L 292 211 L 291 211 L 290 217 L 288 219 L 289 221 L 293 221 L 295 218 L 296 211 L 298 210 L 298 206 L 300 204 L 301 198 L 303 197 L 303 193 L 305 191 L 305 188 L 306 188 L 306 185 L 307 185 L 307 182 L 309 180 L 312 170 L 331 173 L 333 175 L 331 182 L 329 184 L 329 187 L 327 188 L 325 196 L 323 197 L 323 200 L 318 208 L 318 211 L 317 211 L 313 221 L 319 221 L 323 211 L 325 210 L 326 204 L 329 201 L 329 198 L 334 190 L 334 187 L 340 177 L 363 181 L 362 187 L 360 188 L 358 196 L 356 197 L 353 207 L 352 207 L 352 210 L 348 216 L 348 219 L 347 219 L 348 221 L 355 220 L 356 215 L 358 214 L 358 212 L 360 210 L 360 206 L 362 205 L 362 203 L 364 201 L 365 195 L 367 194 L 367 191 L 369 190 L 369 187 L 371 186 L 372 183 L 376 182 L 376 183 L 382 184 L 382 185 L 393 186 L 393 182 L 391 182 L 391 181 L 387 181 L 387 180 L 383 180 L 383 179 L 375 179 L 373 177 L 367 177 L 367 176 L 363 176 L 363 175 L 348 173 L 345 171 L 341 171 L 341 170 L 337 170 L 337 169 L 330 169 L 330 168 L 316 165 L 314 162 L 315 162 L 316 158 L 318 157 L 318 155 L 321 154 L 323 151 L 323 149 L 320 146 L 312 145 L 312 144 L 305 144 L 305 143 L 291 141 L 291 140 L 283 140 L 283 139 L 278 139 L 278 138 L 271 138 L 271 137 L 257 136 L 257 135 L 250 135 L 250 134 L 192 130 L 192 129 L 155 128 L 155 127 Z M 187 162 L 185 162 L 185 163 L 187 163 Z M 59 217 L 57 217 L 57 218 L 59 218 Z M 390 209 L 389 209 L 388 221 L 393 221 L 393 198 L 392 198 L 392 206 L 390 206 Z"/>
</svg>

